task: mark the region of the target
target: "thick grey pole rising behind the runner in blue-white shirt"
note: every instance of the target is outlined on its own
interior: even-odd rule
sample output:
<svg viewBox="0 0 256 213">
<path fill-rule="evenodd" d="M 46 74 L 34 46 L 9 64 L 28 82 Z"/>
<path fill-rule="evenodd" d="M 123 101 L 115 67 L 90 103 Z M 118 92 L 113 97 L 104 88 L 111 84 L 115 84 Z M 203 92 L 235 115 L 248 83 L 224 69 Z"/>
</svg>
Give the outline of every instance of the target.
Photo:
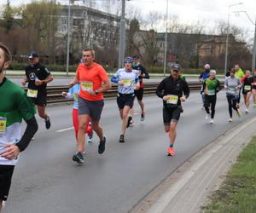
<svg viewBox="0 0 256 213">
<path fill-rule="evenodd" d="M 122 14 L 119 29 L 119 68 L 123 66 L 125 58 L 125 0 L 122 0 Z"/>
</svg>

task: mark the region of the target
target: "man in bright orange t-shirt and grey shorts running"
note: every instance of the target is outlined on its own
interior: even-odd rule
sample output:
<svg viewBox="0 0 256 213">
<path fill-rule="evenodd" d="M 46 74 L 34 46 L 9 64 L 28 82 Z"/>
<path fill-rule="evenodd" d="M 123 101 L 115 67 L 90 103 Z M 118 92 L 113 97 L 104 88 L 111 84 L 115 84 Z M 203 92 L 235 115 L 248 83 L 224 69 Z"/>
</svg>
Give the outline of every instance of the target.
<svg viewBox="0 0 256 213">
<path fill-rule="evenodd" d="M 90 118 L 92 129 L 100 138 L 98 153 L 105 151 L 106 138 L 103 135 L 100 119 L 102 108 L 104 106 L 103 92 L 111 88 L 107 72 L 104 68 L 95 63 L 95 51 L 93 49 L 84 49 L 82 55 L 83 63 L 77 68 L 76 76 L 69 87 L 80 82 L 79 92 L 79 132 L 78 132 L 78 152 L 73 155 L 73 161 L 79 164 L 84 163 L 84 129 L 88 125 Z"/>
</svg>

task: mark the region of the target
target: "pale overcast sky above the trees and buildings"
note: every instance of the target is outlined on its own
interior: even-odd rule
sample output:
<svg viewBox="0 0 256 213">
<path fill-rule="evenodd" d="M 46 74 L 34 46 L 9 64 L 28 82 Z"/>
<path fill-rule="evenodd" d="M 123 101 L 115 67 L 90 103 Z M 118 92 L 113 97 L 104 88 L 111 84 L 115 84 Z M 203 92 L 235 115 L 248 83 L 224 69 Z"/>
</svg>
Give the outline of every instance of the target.
<svg viewBox="0 0 256 213">
<path fill-rule="evenodd" d="M 68 0 L 59 0 L 61 3 Z M 86 1 L 86 0 L 85 0 Z M 102 2 L 104 0 L 96 0 Z M 121 0 L 119 0 L 121 1 Z M 6 0 L 0 0 L 1 3 Z M 30 0 L 10 0 L 11 4 L 29 3 Z M 141 15 L 145 16 L 148 11 L 158 11 L 166 15 L 167 0 L 130 0 L 126 1 L 127 7 L 132 6 L 141 11 Z M 228 20 L 229 5 L 243 3 L 241 5 L 230 7 L 230 24 L 245 28 L 248 30 L 248 38 L 253 38 L 254 26 L 247 19 L 245 13 L 235 14 L 234 11 L 247 11 L 247 14 L 255 23 L 256 17 L 256 0 L 169 0 L 168 14 L 178 16 L 179 20 L 184 23 L 197 22 L 205 20 L 208 26 L 214 26 L 218 20 Z"/>
</svg>

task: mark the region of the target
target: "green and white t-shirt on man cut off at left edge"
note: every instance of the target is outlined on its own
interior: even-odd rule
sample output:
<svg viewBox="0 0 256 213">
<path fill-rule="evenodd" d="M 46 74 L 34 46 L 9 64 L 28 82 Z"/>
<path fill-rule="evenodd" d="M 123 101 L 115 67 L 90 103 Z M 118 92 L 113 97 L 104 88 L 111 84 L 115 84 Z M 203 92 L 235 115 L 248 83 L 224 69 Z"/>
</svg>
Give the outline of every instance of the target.
<svg viewBox="0 0 256 213">
<path fill-rule="evenodd" d="M 36 113 L 35 107 L 20 86 L 3 78 L 0 84 L 0 152 L 7 143 L 20 141 L 22 118 L 31 119 Z M 8 160 L 0 157 L 0 164 L 16 164 L 17 158 Z"/>
</svg>

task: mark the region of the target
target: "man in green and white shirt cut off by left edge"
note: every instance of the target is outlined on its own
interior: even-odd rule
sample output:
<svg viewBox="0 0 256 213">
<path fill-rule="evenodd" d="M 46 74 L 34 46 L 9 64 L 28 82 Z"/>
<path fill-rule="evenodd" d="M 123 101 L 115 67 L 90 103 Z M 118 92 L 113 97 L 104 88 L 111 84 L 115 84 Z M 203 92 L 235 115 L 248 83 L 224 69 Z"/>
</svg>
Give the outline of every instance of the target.
<svg viewBox="0 0 256 213">
<path fill-rule="evenodd" d="M 4 77 L 3 70 L 8 68 L 10 60 L 9 49 L 0 43 L 0 212 L 8 199 L 19 153 L 26 149 L 38 130 L 32 101 L 20 86 Z M 22 118 L 26 121 L 26 130 L 20 138 Z"/>
</svg>

